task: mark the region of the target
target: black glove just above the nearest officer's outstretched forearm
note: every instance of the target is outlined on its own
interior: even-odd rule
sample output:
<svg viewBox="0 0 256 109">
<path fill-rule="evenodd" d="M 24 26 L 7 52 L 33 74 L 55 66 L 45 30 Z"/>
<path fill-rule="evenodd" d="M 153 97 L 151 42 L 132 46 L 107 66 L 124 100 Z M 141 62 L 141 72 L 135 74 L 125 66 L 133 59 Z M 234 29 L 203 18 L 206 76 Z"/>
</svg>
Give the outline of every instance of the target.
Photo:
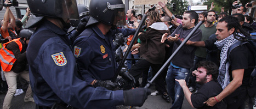
<svg viewBox="0 0 256 109">
<path fill-rule="evenodd" d="M 111 82 L 110 80 L 96 80 L 96 82 L 93 84 L 94 87 L 105 87 L 109 90 L 114 90 L 117 88 L 118 84 Z"/>
</svg>

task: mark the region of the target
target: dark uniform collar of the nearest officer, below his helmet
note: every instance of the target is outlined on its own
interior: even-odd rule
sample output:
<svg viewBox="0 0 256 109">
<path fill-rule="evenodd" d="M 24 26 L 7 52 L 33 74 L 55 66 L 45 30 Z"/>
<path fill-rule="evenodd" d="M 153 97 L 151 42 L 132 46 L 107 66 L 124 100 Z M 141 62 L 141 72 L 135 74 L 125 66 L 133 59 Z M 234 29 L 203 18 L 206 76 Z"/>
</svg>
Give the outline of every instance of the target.
<svg viewBox="0 0 256 109">
<path fill-rule="evenodd" d="M 66 32 L 59 28 L 58 26 L 54 25 L 54 23 L 48 21 L 45 19 L 44 23 L 42 24 L 45 28 L 48 28 L 50 31 L 59 34 L 59 35 L 64 35 Z"/>
</svg>

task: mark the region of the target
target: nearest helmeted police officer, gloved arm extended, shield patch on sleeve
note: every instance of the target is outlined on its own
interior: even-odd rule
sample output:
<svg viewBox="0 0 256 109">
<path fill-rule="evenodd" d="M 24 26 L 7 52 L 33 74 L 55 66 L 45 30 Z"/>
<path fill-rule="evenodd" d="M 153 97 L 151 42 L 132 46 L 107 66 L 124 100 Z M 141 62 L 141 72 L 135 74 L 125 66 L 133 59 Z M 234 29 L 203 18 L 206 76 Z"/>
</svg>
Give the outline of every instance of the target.
<svg viewBox="0 0 256 109">
<path fill-rule="evenodd" d="M 27 48 L 30 82 L 37 108 L 143 105 L 148 89 L 111 91 L 94 88 L 78 78 L 76 59 L 64 31 L 64 25 L 70 19 L 78 19 L 76 0 L 27 0 L 27 3 L 35 16 L 26 26 L 37 27 Z"/>
</svg>

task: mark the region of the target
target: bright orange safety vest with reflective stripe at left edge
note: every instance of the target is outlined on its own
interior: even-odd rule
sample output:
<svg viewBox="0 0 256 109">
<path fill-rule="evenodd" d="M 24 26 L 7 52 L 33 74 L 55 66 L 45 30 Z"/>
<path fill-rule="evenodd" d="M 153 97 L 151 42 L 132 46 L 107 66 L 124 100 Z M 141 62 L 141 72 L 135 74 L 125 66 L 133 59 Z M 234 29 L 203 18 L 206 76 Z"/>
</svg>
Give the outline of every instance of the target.
<svg viewBox="0 0 256 109">
<path fill-rule="evenodd" d="M 4 43 L 2 49 L 0 50 L 0 62 L 2 66 L 2 71 L 10 71 L 13 68 L 13 64 L 16 61 L 16 58 L 12 51 L 6 49 L 6 46 L 12 42 L 15 41 L 16 44 L 18 44 L 20 52 L 22 50 L 22 44 L 20 42 L 20 38 L 13 39 L 9 41 L 8 43 Z"/>
</svg>

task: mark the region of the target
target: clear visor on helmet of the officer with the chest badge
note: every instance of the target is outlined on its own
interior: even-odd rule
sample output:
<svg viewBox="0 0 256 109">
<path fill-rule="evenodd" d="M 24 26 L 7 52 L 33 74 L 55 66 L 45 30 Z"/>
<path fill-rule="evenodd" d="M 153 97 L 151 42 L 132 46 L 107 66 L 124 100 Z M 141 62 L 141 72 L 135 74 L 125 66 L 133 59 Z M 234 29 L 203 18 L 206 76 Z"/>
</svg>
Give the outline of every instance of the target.
<svg viewBox="0 0 256 109">
<path fill-rule="evenodd" d="M 116 21 L 117 21 L 117 26 L 125 26 L 126 25 L 126 14 L 124 12 L 124 8 L 119 8 L 115 9 L 117 10 L 116 12 Z"/>
</svg>

